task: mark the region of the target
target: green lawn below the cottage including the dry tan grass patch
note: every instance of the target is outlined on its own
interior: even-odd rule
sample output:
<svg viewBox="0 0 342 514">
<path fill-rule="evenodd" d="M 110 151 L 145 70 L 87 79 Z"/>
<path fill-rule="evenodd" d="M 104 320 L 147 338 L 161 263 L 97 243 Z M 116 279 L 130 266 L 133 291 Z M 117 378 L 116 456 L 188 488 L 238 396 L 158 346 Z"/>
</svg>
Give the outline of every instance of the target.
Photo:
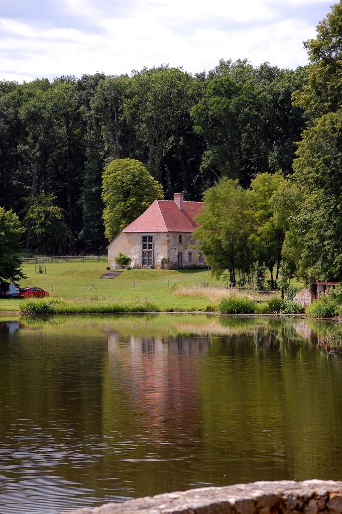
<svg viewBox="0 0 342 514">
<path fill-rule="evenodd" d="M 63 305 L 67 312 L 132 311 L 138 305 L 138 310 L 144 311 L 153 310 L 152 306 L 164 311 L 206 310 L 208 305 L 216 310 L 222 298 L 230 294 L 227 289 L 218 289 L 223 287 L 223 281 L 206 270 L 132 269 L 116 279 L 99 278 L 105 263 L 47 264 L 43 273 L 37 273 L 38 266 L 26 264 L 23 270 L 28 278 L 21 281 L 21 287 L 46 289 L 50 298 L 66 300 Z M 266 299 L 251 293 L 248 296 L 250 300 Z M 0 310 L 20 311 L 25 302 L 0 300 Z"/>
</svg>

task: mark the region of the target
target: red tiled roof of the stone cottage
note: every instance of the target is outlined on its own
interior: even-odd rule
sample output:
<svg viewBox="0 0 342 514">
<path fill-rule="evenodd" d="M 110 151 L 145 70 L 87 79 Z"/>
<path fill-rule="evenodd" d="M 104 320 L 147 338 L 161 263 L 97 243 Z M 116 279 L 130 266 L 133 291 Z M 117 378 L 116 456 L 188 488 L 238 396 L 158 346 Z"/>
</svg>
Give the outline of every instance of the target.
<svg viewBox="0 0 342 514">
<path fill-rule="evenodd" d="M 184 201 L 181 210 L 174 200 L 154 200 L 122 232 L 193 232 L 199 226 L 193 218 L 202 207 L 202 201 Z"/>
</svg>

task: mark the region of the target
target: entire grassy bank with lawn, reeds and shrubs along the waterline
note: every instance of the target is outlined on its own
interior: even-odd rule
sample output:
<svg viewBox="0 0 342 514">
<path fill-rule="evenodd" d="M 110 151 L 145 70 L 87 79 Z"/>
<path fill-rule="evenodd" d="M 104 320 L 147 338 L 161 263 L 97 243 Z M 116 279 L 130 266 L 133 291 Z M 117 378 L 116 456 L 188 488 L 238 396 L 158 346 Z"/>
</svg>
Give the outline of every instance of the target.
<svg viewBox="0 0 342 514">
<path fill-rule="evenodd" d="M 124 270 L 115 279 L 101 279 L 99 263 L 54 263 L 39 272 L 25 264 L 27 278 L 20 286 L 49 291 L 46 298 L 2 299 L 0 312 L 24 316 L 111 313 L 303 314 L 296 302 L 280 298 L 280 291 L 257 292 L 227 288 L 207 270 Z M 297 284 L 298 285 L 298 284 Z M 332 318 L 342 313 L 338 295 L 314 302 L 308 317 Z"/>
</svg>

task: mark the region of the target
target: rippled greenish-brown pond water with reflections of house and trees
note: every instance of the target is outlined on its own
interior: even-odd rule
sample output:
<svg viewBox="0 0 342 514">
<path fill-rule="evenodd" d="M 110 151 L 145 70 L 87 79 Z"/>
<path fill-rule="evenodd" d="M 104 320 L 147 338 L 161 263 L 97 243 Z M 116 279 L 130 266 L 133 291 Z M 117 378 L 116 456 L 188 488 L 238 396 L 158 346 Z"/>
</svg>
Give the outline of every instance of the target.
<svg viewBox="0 0 342 514">
<path fill-rule="evenodd" d="M 0 319 L 0 513 L 340 479 L 330 325 L 206 315 Z"/>
</svg>

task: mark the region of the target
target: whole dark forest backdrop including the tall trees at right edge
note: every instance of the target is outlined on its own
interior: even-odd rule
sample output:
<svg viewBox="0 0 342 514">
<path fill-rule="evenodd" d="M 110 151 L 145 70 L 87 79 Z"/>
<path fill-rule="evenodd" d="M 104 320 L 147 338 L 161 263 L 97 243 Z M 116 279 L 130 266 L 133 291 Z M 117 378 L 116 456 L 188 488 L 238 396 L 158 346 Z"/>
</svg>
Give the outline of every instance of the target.
<svg viewBox="0 0 342 514">
<path fill-rule="evenodd" d="M 19 216 L 26 250 L 103 251 L 103 170 L 133 158 L 166 199 L 202 200 L 223 178 L 246 190 L 262 173 L 292 177 L 306 210 L 286 234 L 287 255 L 297 252 L 298 267 L 312 255 L 331 266 L 335 257 L 327 264 L 317 247 L 331 254 L 340 232 L 341 27 L 339 2 L 305 43 L 310 64 L 296 70 L 221 60 L 195 75 L 160 66 L 0 82 L 0 207 Z"/>
</svg>

